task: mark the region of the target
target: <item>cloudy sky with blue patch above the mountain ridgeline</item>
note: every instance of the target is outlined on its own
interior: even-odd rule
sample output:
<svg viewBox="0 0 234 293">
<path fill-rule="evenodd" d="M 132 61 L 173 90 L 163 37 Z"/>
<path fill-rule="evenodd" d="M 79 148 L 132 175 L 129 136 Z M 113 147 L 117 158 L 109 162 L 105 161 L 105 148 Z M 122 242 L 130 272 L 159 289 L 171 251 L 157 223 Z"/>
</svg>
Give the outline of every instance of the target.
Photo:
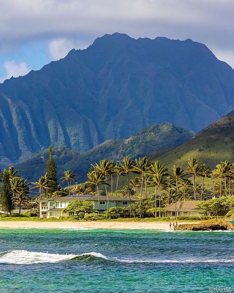
<svg viewBox="0 0 234 293">
<path fill-rule="evenodd" d="M 234 0 L 0 0 L 0 82 L 104 34 L 205 44 L 234 68 Z"/>
</svg>

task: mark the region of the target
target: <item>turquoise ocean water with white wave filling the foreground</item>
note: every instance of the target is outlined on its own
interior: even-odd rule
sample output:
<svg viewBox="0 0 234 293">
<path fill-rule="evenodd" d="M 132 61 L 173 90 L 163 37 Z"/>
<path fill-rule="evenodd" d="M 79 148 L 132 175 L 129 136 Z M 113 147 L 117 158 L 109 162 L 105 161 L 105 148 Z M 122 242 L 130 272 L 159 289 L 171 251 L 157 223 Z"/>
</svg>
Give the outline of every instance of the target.
<svg viewBox="0 0 234 293">
<path fill-rule="evenodd" d="M 0 229 L 0 292 L 234 292 L 234 232 Z"/>
</svg>

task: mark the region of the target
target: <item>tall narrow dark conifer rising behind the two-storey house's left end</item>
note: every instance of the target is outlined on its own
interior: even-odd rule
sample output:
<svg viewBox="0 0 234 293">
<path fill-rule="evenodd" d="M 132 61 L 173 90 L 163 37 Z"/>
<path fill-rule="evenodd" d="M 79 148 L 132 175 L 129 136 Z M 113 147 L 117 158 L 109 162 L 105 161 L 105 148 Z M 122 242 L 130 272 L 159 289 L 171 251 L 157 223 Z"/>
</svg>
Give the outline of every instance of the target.
<svg viewBox="0 0 234 293">
<path fill-rule="evenodd" d="M 58 180 L 57 180 L 57 168 L 56 168 L 56 163 L 53 159 L 53 154 L 52 154 L 52 147 L 49 146 L 49 159 L 47 161 L 47 176 L 48 176 L 48 188 L 49 188 L 49 193 L 53 193 L 56 190 L 59 189 L 58 185 Z"/>
</svg>

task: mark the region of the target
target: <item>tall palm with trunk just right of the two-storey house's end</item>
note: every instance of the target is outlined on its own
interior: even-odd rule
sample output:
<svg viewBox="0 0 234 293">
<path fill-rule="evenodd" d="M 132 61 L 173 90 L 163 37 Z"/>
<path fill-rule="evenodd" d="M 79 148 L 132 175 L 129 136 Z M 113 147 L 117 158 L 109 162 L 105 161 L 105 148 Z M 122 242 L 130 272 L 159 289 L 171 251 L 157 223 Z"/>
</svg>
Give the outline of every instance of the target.
<svg viewBox="0 0 234 293">
<path fill-rule="evenodd" d="M 147 159 L 145 156 L 139 159 L 135 160 L 135 166 L 133 168 L 133 171 L 135 173 L 139 173 L 141 175 L 141 186 L 140 186 L 140 218 L 141 218 L 141 199 L 142 199 L 142 188 L 143 183 L 145 186 L 145 196 L 147 192 L 147 183 L 146 183 L 146 174 L 149 173 L 149 159 Z"/>
</svg>

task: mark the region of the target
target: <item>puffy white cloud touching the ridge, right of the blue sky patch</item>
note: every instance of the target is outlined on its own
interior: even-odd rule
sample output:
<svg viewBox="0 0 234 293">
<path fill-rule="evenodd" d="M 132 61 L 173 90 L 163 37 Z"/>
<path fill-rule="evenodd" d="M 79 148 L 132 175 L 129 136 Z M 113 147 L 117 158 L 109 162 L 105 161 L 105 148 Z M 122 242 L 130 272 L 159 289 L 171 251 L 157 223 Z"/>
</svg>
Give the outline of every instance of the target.
<svg viewBox="0 0 234 293">
<path fill-rule="evenodd" d="M 54 39 L 49 43 L 48 49 L 50 57 L 58 60 L 66 56 L 71 49 L 86 49 L 88 45 L 69 39 Z"/>
</svg>

